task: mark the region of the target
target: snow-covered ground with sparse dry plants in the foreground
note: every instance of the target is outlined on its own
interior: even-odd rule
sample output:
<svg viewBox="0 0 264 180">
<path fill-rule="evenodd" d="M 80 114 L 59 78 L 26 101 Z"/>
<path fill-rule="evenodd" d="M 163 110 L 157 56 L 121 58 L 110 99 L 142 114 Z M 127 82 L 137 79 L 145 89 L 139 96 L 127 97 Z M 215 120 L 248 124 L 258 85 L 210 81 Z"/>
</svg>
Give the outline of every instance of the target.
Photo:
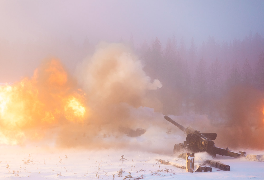
<svg viewBox="0 0 264 180">
<path fill-rule="evenodd" d="M 166 148 L 166 147 L 164 147 Z M 264 179 L 264 162 L 216 156 L 230 171 L 188 173 L 157 159 L 183 163 L 171 155 L 125 149 L 85 150 L 1 146 L 0 179 Z M 257 152 L 252 152 L 257 153 Z M 120 160 L 123 158 L 127 160 Z M 210 158 L 196 153 L 196 164 Z"/>
</svg>

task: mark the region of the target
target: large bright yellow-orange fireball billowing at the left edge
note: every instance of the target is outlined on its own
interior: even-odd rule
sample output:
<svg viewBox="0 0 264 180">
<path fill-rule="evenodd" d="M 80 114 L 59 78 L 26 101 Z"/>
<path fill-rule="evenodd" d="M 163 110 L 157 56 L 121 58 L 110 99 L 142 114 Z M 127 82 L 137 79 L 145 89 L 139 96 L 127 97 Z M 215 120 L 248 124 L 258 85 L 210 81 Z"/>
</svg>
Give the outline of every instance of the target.
<svg viewBox="0 0 264 180">
<path fill-rule="evenodd" d="M 62 121 L 83 122 L 85 94 L 69 79 L 60 61 L 52 59 L 32 79 L 0 86 L 0 144 L 41 139 L 43 129 Z"/>
</svg>

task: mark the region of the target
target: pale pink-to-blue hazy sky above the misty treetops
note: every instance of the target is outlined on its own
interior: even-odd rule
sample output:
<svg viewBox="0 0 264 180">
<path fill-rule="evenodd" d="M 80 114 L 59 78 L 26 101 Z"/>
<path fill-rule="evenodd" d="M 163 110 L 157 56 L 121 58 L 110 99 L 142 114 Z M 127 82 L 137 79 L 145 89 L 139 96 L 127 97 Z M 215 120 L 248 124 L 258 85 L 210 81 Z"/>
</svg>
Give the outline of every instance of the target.
<svg viewBox="0 0 264 180">
<path fill-rule="evenodd" d="M 41 1 L 1 0 L 0 37 L 37 40 L 69 36 L 96 43 L 129 39 L 141 44 L 175 31 L 196 44 L 208 36 L 219 41 L 243 39 L 250 30 L 263 35 L 264 1 Z"/>
</svg>

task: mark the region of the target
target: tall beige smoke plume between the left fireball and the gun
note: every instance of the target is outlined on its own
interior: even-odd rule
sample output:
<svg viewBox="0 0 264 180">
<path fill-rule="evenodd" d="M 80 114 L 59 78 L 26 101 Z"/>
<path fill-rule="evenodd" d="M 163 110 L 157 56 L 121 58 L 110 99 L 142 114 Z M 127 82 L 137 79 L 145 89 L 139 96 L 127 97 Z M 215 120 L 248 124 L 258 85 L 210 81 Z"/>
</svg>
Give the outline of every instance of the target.
<svg viewBox="0 0 264 180">
<path fill-rule="evenodd" d="M 58 144 L 72 146 L 79 141 L 77 144 L 91 147 L 126 146 L 127 137 L 138 137 L 146 132 L 148 125 L 144 119 L 135 118 L 131 110 L 143 106 L 151 108 L 153 105 L 146 100 L 146 93 L 161 88 L 162 84 L 157 79 L 151 81 L 141 61 L 129 48 L 123 44 L 101 43 L 91 57 L 79 64 L 76 74 L 86 92 L 89 118 L 82 125 L 83 130 L 78 126 L 77 129 L 63 127 L 62 132 L 72 132 L 72 135 L 67 139 L 59 136 Z M 123 136 L 126 138 L 122 139 Z M 94 137 L 100 139 L 99 144 Z"/>
</svg>

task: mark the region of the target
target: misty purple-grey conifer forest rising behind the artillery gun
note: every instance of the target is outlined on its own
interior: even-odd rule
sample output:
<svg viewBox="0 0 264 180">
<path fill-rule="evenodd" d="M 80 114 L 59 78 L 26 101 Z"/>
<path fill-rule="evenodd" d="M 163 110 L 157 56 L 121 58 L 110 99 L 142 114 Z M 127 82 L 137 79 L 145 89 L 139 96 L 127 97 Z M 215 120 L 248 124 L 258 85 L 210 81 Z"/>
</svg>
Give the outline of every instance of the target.
<svg viewBox="0 0 264 180">
<path fill-rule="evenodd" d="M 136 51 L 147 74 L 163 84 L 156 95 L 165 114 L 194 111 L 219 116 L 232 108 L 226 97 L 233 91 L 243 91 L 241 97 L 234 95 L 234 102 L 250 97 L 244 105 L 252 99 L 258 99 L 259 105 L 264 98 L 264 39 L 258 32 L 229 43 L 208 37 L 201 46 L 192 38 L 189 47 L 173 33 L 165 45 L 156 37 L 150 44 L 144 41 Z"/>
</svg>

